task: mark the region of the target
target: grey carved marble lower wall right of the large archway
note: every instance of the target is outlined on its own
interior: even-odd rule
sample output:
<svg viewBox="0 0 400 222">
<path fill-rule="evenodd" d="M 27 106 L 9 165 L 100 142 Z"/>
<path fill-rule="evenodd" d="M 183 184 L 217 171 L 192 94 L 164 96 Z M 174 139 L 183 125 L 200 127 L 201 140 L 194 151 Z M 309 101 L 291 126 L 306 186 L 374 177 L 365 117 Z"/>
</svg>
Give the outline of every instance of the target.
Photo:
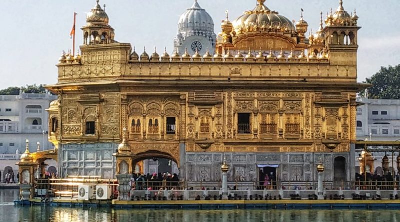
<svg viewBox="0 0 400 222">
<path fill-rule="evenodd" d="M 349 180 L 349 153 L 186 153 L 185 176 L 187 181 L 220 181 L 220 167 L 226 158 L 229 181 L 259 180 L 257 164 L 278 164 L 280 181 L 312 181 L 317 180 L 316 166 L 322 159 L 324 180 L 333 181 L 336 157 L 346 159 L 345 177 Z"/>
</svg>

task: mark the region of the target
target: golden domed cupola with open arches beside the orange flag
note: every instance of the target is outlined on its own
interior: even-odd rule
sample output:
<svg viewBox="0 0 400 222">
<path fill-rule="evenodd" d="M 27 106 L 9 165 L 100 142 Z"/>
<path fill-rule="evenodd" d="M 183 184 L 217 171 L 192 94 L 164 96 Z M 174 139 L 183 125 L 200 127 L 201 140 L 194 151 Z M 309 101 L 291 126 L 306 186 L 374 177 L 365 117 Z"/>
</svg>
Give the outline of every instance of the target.
<svg viewBox="0 0 400 222">
<path fill-rule="evenodd" d="M 87 13 L 86 25 L 83 30 L 83 44 L 108 44 L 115 42 L 114 29 L 108 24 L 109 18 L 104 9 L 100 6 L 100 0 L 96 0 L 96 4 Z"/>
</svg>

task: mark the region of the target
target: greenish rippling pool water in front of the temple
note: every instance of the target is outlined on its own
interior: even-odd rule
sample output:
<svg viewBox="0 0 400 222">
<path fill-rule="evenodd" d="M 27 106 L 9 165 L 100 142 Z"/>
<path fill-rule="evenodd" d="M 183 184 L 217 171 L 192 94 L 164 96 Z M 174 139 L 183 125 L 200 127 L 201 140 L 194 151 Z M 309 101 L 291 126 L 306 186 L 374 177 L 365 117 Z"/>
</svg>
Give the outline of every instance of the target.
<svg viewBox="0 0 400 222">
<path fill-rule="evenodd" d="M 131 210 L 14 206 L 18 190 L 0 190 L 0 222 L 400 222 L 388 210 Z"/>
</svg>

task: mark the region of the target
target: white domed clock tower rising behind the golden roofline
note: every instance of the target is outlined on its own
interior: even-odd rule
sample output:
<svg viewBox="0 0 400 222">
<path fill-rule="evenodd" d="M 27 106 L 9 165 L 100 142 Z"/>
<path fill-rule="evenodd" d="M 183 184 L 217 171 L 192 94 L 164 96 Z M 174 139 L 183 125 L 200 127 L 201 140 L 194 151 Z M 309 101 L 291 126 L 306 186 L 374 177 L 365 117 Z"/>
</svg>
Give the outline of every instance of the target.
<svg viewBox="0 0 400 222">
<path fill-rule="evenodd" d="M 201 8 L 197 0 L 188 8 L 179 19 L 178 34 L 173 45 L 183 54 L 187 48 L 189 54 L 198 51 L 205 54 L 207 48 L 211 54 L 215 52 L 214 21 L 211 16 Z"/>
</svg>

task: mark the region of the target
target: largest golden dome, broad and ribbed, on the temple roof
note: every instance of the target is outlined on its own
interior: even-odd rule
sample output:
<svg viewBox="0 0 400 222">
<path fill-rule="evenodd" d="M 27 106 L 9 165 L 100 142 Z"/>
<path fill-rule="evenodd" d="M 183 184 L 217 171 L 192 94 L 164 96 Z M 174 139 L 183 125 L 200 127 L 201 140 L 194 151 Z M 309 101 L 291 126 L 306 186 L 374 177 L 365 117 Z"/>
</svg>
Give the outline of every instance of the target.
<svg viewBox="0 0 400 222">
<path fill-rule="evenodd" d="M 271 11 L 264 5 L 265 0 L 257 0 L 257 6 L 233 21 L 237 34 L 256 31 L 296 32 L 293 23 L 277 11 Z"/>
</svg>

